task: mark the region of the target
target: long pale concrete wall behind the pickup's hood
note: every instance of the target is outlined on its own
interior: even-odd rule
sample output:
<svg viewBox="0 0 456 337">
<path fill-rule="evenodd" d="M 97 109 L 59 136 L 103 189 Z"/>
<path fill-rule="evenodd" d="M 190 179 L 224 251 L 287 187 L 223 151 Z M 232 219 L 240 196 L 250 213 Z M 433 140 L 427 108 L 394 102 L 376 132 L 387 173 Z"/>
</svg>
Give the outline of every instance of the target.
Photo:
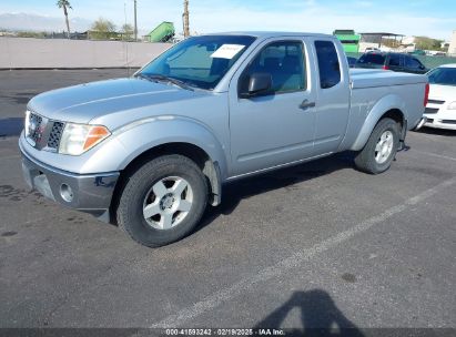
<svg viewBox="0 0 456 337">
<path fill-rule="evenodd" d="M 0 69 L 142 67 L 169 43 L 0 38 Z"/>
</svg>

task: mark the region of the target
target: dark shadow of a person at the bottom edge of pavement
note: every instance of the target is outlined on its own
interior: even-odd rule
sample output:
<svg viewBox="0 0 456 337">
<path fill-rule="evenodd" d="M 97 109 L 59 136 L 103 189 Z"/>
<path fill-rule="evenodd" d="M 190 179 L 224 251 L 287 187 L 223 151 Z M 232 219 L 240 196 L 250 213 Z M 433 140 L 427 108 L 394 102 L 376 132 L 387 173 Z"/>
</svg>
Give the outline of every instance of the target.
<svg viewBox="0 0 456 337">
<path fill-rule="evenodd" d="M 280 329 L 296 308 L 302 326 L 287 328 L 286 336 L 364 336 L 337 308 L 330 294 L 322 289 L 294 292 L 287 302 L 259 321 L 254 329 Z"/>
</svg>

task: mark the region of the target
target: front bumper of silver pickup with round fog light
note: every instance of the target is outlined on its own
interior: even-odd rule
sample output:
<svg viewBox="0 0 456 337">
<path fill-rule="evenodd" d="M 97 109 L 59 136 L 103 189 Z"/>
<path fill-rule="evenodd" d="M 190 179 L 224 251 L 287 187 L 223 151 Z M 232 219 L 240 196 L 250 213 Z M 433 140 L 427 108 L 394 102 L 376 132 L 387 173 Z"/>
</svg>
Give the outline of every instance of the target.
<svg viewBox="0 0 456 337">
<path fill-rule="evenodd" d="M 40 163 L 22 149 L 21 153 L 23 177 L 31 188 L 59 204 L 109 222 L 109 207 L 119 172 L 79 175 Z"/>
</svg>

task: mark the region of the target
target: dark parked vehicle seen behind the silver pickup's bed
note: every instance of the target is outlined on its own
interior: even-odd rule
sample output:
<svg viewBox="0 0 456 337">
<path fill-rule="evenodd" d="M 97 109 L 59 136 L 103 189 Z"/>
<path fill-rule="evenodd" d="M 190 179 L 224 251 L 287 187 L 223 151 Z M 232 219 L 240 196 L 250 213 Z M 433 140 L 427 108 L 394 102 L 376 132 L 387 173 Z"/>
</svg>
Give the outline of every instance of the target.
<svg viewBox="0 0 456 337">
<path fill-rule="evenodd" d="M 367 52 L 356 62 L 355 68 L 383 69 L 399 72 L 424 74 L 428 70 L 418 59 L 393 52 Z"/>
</svg>

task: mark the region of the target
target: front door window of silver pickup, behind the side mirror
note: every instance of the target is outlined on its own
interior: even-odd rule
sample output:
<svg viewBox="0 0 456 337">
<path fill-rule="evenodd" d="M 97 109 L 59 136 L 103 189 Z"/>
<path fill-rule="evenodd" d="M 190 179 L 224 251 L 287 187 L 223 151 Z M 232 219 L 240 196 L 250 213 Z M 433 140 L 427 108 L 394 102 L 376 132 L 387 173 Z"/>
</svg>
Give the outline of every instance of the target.
<svg viewBox="0 0 456 337">
<path fill-rule="evenodd" d="M 253 73 L 271 74 L 272 90 L 268 94 L 305 90 L 303 43 L 281 41 L 263 48 L 242 74 L 241 92 L 249 85 L 249 79 Z"/>
</svg>

